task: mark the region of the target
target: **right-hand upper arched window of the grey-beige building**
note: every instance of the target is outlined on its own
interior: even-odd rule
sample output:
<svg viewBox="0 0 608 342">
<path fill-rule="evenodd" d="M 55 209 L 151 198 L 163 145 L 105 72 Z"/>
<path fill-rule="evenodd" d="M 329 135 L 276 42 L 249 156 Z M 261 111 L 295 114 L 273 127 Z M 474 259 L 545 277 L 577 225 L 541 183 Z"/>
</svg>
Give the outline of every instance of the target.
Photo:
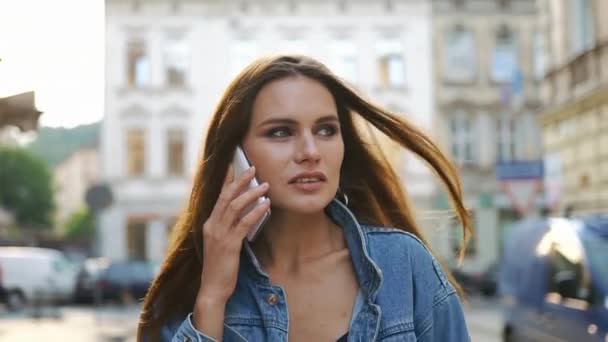
<svg viewBox="0 0 608 342">
<path fill-rule="evenodd" d="M 503 26 L 496 34 L 490 75 L 495 82 L 509 82 L 518 69 L 517 39 L 509 28 Z"/>
</svg>

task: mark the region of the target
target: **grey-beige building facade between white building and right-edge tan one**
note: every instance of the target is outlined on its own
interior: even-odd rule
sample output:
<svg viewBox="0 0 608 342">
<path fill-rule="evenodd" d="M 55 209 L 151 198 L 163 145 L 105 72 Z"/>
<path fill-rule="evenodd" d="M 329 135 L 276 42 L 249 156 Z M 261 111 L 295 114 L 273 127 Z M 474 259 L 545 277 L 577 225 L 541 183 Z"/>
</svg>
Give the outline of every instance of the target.
<svg viewBox="0 0 608 342">
<path fill-rule="evenodd" d="M 434 0 L 433 31 L 436 138 L 460 169 L 475 225 L 463 271 L 480 272 L 521 217 L 497 165 L 542 156 L 535 1 Z M 441 188 L 434 208 L 448 208 Z M 435 248 L 454 261 L 460 229 L 450 213 L 438 217 Z"/>
</svg>

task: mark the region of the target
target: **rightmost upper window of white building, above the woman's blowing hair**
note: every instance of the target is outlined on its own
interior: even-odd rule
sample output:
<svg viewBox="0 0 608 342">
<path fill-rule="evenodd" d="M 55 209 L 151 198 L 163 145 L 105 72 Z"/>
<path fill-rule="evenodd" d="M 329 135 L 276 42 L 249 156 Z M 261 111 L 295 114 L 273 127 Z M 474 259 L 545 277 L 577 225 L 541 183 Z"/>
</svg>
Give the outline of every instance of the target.
<svg viewBox="0 0 608 342">
<path fill-rule="evenodd" d="M 405 87 L 403 46 L 398 40 L 384 40 L 378 46 L 378 74 L 381 88 Z"/>
</svg>

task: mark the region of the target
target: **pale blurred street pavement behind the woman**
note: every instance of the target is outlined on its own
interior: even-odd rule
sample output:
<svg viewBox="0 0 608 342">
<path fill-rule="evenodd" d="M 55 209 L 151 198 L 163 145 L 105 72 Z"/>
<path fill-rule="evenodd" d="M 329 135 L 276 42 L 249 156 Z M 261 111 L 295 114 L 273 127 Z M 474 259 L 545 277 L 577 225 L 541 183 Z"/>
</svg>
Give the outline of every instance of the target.
<svg viewBox="0 0 608 342">
<path fill-rule="evenodd" d="M 477 297 L 464 305 L 471 339 L 500 341 L 501 316 L 495 300 Z M 45 309 L 41 318 L 33 311 L 0 313 L 0 341 L 135 341 L 139 306 L 67 306 Z"/>
</svg>

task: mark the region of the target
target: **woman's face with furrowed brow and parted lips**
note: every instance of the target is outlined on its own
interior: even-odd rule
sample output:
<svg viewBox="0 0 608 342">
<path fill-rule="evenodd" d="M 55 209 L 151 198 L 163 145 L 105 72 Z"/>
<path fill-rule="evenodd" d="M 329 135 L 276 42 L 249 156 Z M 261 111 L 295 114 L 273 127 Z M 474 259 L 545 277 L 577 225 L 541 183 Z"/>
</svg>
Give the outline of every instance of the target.
<svg viewBox="0 0 608 342">
<path fill-rule="evenodd" d="M 336 104 L 304 76 L 272 81 L 258 93 L 243 141 L 273 210 L 314 213 L 336 194 L 344 143 Z"/>
</svg>

